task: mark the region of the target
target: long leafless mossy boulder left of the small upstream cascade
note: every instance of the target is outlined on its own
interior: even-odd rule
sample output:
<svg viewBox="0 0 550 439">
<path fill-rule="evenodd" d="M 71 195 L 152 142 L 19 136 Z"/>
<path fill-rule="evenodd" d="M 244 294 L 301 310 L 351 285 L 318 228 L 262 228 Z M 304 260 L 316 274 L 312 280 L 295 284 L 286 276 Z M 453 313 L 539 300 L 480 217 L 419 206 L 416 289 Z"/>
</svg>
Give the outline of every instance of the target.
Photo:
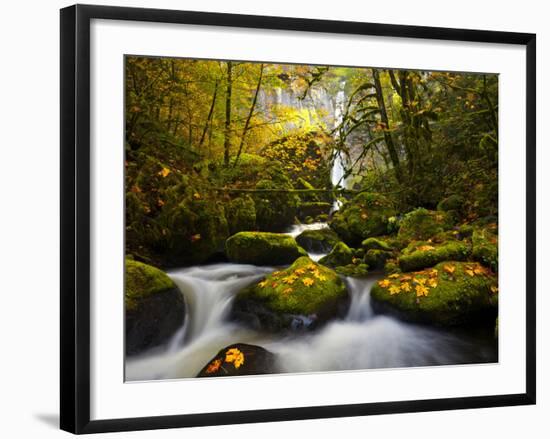
<svg viewBox="0 0 550 439">
<path fill-rule="evenodd" d="M 270 232 L 239 232 L 225 242 L 231 262 L 254 265 L 287 265 L 307 256 L 292 236 Z"/>
</svg>

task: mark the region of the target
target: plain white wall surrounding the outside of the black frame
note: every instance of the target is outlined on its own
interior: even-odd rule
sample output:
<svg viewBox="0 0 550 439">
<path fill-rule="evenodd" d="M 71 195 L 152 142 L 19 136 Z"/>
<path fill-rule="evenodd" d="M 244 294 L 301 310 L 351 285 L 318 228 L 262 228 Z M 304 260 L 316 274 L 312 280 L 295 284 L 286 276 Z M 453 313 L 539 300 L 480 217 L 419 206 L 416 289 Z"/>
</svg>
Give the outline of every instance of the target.
<svg viewBox="0 0 550 439">
<path fill-rule="evenodd" d="M 95 2 L 92 2 L 95 3 Z M 538 145 L 539 145 L 539 225 L 548 223 L 548 206 L 543 203 L 548 152 L 542 103 L 550 98 L 543 82 L 548 76 L 550 29 L 543 2 L 449 3 L 440 1 L 393 1 L 390 3 L 258 1 L 133 1 L 100 2 L 126 6 L 166 7 L 220 12 L 304 16 L 341 20 L 485 28 L 536 32 L 538 34 Z M 265 3 L 265 4 L 264 4 Z M 0 26 L 2 66 L 0 68 L 0 120 L 2 121 L 0 160 L 1 293 L 0 359 L 1 419 L 4 437 L 59 437 L 58 412 L 58 285 L 59 285 L 59 164 L 58 164 L 58 8 L 66 2 L 26 1 L 3 5 Z M 539 249 L 548 242 L 548 233 L 539 227 Z M 543 316 L 548 300 L 543 292 L 548 257 L 538 255 L 538 347 L 539 404 L 535 407 L 468 410 L 443 413 L 405 414 L 339 420 L 316 420 L 270 425 L 224 426 L 182 432 L 141 432 L 108 435 L 114 437 L 240 438 L 300 435 L 383 436 L 407 438 L 463 438 L 491 435 L 531 438 L 547 437 L 550 390 L 548 370 L 548 324 Z M 6 300 L 7 299 L 7 300 Z"/>
</svg>

